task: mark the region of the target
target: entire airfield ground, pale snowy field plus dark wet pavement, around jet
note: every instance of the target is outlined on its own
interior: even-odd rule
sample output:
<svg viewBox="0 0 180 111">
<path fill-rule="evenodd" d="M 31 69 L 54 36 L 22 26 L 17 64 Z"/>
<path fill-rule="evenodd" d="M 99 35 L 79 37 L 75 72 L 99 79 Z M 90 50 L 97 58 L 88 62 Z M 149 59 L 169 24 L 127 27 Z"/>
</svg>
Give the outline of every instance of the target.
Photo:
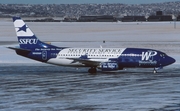
<svg viewBox="0 0 180 111">
<path fill-rule="evenodd" d="M 27 23 L 60 47 L 132 47 L 163 51 L 176 63 L 90 75 L 16 55 L 12 21 L 0 21 L 1 111 L 180 111 L 180 22 Z M 103 43 L 105 41 L 105 43 Z"/>
</svg>

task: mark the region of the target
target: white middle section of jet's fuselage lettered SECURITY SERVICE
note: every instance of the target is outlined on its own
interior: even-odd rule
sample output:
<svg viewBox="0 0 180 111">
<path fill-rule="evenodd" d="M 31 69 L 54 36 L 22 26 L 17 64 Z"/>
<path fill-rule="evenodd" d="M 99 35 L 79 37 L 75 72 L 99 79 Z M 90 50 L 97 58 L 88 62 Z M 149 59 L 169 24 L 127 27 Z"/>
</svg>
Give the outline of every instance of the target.
<svg viewBox="0 0 180 111">
<path fill-rule="evenodd" d="M 57 54 L 56 58 L 49 59 L 47 62 L 62 66 L 84 67 L 84 64 L 69 58 L 76 59 L 86 55 L 89 60 L 107 62 L 109 58 L 118 58 L 124 50 L 125 48 L 65 48 Z"/>
</svg>

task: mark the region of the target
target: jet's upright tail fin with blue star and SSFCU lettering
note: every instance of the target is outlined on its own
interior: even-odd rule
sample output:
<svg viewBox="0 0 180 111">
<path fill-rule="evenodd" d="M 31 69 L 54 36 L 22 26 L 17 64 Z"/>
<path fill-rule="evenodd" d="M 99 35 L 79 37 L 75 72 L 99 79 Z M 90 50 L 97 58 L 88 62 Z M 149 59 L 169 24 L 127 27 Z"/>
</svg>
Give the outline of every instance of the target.
<svg viewBox="0 0 180 111">
<path fill-rule="evenodd" d="M 22 49 L 34 49 L 36 47 L 47 48 L 50 45 L 41 42 L 20 17 L 13 17 L 19 46 Z"/>
</svg>

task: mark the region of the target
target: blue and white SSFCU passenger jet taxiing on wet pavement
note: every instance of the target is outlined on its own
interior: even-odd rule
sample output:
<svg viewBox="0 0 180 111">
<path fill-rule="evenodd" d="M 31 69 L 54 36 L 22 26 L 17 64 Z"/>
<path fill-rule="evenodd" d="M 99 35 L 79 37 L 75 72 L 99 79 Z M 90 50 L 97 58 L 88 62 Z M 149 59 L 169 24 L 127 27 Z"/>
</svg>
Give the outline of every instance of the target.
<svg viewBox="0 0 180 111">
<path fill-rule="evenodd" d="M 152 68 L 154 73 L 175 59 L 164 52 L 145 48 L 72 48 L 57 47 L 40 41 L 20 17 L 13 17 L 18 47 L 8 47 L 20 56 L 43 63 L 88 67 L 88 72 L 118 71 L 124 68 Z"/>
</svg>

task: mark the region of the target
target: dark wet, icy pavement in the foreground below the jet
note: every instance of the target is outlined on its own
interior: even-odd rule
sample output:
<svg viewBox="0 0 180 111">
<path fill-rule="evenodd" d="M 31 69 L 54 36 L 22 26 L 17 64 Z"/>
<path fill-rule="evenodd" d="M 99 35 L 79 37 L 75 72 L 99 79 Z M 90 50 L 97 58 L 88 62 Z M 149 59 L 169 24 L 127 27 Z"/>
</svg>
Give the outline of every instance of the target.
<svg viewBox="0 0 180 111">
<path fill-rule="evenodd" d="M 179 111 L 180 68 L 87 69 L 42 64 L 0 66 L 1 111 Z"/>
</svg>

